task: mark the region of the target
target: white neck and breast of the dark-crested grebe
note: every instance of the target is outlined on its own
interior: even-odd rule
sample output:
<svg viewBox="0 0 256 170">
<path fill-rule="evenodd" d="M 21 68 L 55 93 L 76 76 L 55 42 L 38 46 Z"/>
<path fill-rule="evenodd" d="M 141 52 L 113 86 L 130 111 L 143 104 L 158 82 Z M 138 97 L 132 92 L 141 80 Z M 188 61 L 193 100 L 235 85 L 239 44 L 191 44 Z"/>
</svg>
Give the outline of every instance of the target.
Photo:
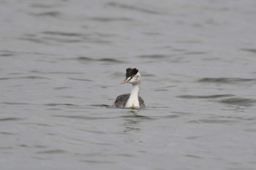
<svg viewBox="0 0 256 170">
<path fill-rule="evenodd" d="M 127 104 L 125 107 L 140 107 L 139 102 L 139 93 L 140 93 L 140 84 L 139 85 L 132 85 L 132 92 L 129 95 L 129 98 L 127 100 Z"/>
</svg>

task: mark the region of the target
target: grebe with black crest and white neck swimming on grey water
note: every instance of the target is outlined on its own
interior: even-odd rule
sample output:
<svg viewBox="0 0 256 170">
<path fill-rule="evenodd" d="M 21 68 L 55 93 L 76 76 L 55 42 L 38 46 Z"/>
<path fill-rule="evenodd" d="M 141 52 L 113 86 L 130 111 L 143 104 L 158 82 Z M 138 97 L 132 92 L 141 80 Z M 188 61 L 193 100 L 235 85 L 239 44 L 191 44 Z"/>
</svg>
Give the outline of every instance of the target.
<svg viewBox="0 0 256 170">
<path fill-rule="evenodd" d="M 129 94 L 121 94 L 116 98 L 115 107 L 127 108 L 145 108 L 143 99 L 139 96 L 140 93 L 140 73 L 138 69 L 127 69 L 126 78 L 121 84 L 132 84 L 132 92 Z"/>
</svg>

